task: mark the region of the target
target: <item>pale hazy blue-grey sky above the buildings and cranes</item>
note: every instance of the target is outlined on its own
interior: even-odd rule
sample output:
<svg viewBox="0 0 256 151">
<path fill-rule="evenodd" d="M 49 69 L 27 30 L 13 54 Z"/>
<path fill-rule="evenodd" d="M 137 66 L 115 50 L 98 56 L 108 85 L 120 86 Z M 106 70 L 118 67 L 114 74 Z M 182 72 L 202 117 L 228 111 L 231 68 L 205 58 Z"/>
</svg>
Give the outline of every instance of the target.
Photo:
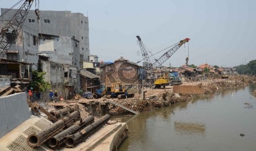
<svg viewBox="0 0 256 151">
<path fill-rule="evenodd" d="M 0 0 L 0 7 L 17 2 Z M 88 15 L 90 54 L 100 61 L 121 55 L 133 62 L 141 60 L 137 35 L 152 53 L 189 37 L 189 64 L 197 66 L 207 62 L 233 67 L 256 59 L 255 0 L 42 0 L 39 4 L 40 10 Z M 181 66 L 185 58 L 181 47 L 164 64 Z"/>
</svg>

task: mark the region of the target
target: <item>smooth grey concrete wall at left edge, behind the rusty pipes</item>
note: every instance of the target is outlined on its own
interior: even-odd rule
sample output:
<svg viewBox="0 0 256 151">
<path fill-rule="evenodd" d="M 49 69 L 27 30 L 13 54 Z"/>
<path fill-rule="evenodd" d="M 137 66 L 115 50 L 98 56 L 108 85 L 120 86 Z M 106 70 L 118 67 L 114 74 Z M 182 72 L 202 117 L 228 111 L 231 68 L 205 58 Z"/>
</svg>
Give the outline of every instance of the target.
<svg viewBox="0 0 256 151">
<path fill-rule="evenodd" d="M 0 97 L 0 137 L 30 118 L 25 92 Z"/>
</svg>

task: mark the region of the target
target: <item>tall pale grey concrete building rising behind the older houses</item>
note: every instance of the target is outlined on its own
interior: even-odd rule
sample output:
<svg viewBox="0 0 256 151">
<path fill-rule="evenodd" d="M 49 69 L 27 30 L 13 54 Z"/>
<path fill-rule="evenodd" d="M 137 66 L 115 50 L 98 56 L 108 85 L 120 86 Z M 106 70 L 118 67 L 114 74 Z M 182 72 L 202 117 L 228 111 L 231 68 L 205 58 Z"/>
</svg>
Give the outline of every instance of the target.
<svg viewBox="0 0 256 151">
<path fill-rule="evenodd" d="M 1 9 L 1 13 L 6 10 Z M 3 16 L 3 20 L 10 20 L 14 12 L 15 9 L 10 10 Z M 29 19 L 34 19 L 34 22 L 29 22 Z M 89 23 L 88 17 L 85 17 L 83 14 L 71 13 L 71 11 L 40 10 L 40 20 L 39 24 L 37 24 L 35 10 L 30 10 L 24 26 L 30 27 L 35 31 L 40 30 L 41 32 L 39 33 L 73 37 L 79 40 L 79 51 L 83 55 L 83 61 L 89 61 Z"/>
</svg>

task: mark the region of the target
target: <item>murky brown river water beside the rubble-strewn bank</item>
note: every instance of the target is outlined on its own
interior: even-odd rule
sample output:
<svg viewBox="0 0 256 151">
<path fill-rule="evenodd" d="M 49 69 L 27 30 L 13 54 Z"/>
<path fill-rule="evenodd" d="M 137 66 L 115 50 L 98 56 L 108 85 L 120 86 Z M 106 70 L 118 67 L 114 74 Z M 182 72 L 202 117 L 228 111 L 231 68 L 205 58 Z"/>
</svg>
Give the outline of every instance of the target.
<svg viewBox="0 0 256 151">
<path fill-rule="evenodd" d="M 256 150 L 255 88 L 141 113 L 128 122 L 129 137 L 119 150 Z"/>
</svg>

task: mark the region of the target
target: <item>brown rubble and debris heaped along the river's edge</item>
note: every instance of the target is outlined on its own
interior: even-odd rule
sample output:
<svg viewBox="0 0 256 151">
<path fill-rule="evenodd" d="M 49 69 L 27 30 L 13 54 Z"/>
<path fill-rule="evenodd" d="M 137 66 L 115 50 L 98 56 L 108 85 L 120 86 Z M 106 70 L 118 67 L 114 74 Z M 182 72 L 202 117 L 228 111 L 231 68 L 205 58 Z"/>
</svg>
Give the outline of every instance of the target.
<svg viewBox="0 0 256 151">
<path fill-rule="evenodd" d="M 230 77 L 228 79 L 208 79 L 200 82 L 185 82 L 182 85 L 202 85 L 204 86 L 204 95 L 211 94 L 216 91 L 221 91 L 228 88 L 237 88 L 246 86 L 249 83 L 256 82 L 255 77 L 249 77 L 247 75 L 239 75 Z M 173 86 L 166 86 L 166 89 L 146 89 L 146 100 L 140 100 L 140 97 L 127 98 L 123 100 L 114 99 L 115 102 L 122 104 L 123 106 L 133 109 L 136 112 L 150 111 L 155 108 L 161 108 L 170 106 L 177 102 L 189 101 L 193 97 L 198 96 L 196 94 L 184 95 L 173 93 Z M 256 92 L 255 92 L 256 94 Z M 137 95 L 135 95 L 137 96 Z M 126 110 L 111 106 L 111 111 L 116 114 L 127 114 Z"/>
</svg>

